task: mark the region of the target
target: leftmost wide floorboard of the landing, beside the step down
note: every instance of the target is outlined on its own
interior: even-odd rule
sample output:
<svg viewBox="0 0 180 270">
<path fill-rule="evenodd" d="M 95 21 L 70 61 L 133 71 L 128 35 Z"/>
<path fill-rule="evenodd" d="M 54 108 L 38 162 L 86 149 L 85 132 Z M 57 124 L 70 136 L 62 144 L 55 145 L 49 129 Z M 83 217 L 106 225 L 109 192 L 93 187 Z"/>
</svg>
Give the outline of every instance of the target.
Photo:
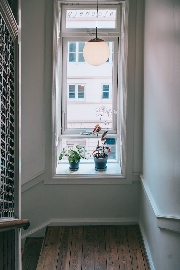
<svg viewBox="0 0 180 270">
<path fill-rule="evenodd" d="M 62 227 L 47 227 L 36 270 L 56 270 Z"/>
</svg>

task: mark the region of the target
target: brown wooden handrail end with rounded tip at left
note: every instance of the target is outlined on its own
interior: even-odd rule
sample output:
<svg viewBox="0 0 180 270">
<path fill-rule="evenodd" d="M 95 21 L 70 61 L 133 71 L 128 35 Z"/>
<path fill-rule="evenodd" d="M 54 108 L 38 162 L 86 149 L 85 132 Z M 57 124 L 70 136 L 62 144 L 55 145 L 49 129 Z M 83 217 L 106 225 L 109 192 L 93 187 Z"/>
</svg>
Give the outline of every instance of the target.
<svg viewBox="0 0 180 270">
<path fill-rule="evenodd" d="M 16 228 L 22 228 L 27 230 L 29 228 L 30 222 L 28 219 L 24 220 L 11 220 L 0 222 L 0 232 L 13 230 Z"/>
</svg>

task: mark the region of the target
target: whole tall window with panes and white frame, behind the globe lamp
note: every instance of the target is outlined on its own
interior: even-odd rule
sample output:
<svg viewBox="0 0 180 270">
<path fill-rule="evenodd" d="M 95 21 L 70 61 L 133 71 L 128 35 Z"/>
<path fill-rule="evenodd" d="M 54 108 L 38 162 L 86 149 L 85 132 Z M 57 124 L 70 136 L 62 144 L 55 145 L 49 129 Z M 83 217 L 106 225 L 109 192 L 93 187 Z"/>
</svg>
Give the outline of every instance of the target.
<svg viewBox="0 0 180 270">
<path fill-rule="evenodd" d="M 52 161 L 53 174 L 61 171 L 64 166 L 61 167 L 61 164 L 66 164 L 65 160 L 59 162 L 58 158 L 62 149 L 68 148 L 68 142 L 71 141 L 71 146 L 76 146 L 83 141 L 81 145 L 84 145 L 90 153 L 93 152 L 97 145 L 97 137 L 92 134 L 92 130 L 99 122 L 95 110 L 98 106 L 106 106 L 112 111 L 118 111 L 118 114 L 113 115 L 109 124 L 106 144 L 113 147 L 113 151 L 109 153 L 108 162 L 116 163 L 121 168 L 122 87 L 123 79 L 126 80 L 123 77 L 122 4 L 117 1 L 115 5 L 99 5 L 98 28 L 100 31 L 98 37 L 104 39 L 110 47 L 110 57 L 101 66 L 91 66 L 83 58 L 85 43 L 96 36 L 96 23 L 94 23 L 96 22 L 95 14 L 97 16 L 96 8 L 97 6 L 94 4 L 66 5 L 61 4 L 61 1 L 58 1 L 58 4 L 56 1 L 54 3 L 53 40 L 54 48 L 57 46 L 57 50 L 53 51 L 55 56 L 53 59 L 56 59 L 57 62 L 53 62 L 55 78 L 53 134 L 55 136 L 52 137 L 56 137 L 56 143 L 52 140 L 52 156 L 56 157 Z M 124 12 L 123 9 L 123 14 Z M 128 14 L 128 5 L 126 12 Z M 58 21 L 57 25 L 56 21 Z M 122 27 L 124 27 L 124 23 Z M 103 131 L 106 116 L 101 120 Z M 85 160 L 82 163 L 91 164 L 93 163 L 91 160 L 89 158 L 88 161 Z M 66 177 L 68 178 L 68 176 Z M 119 175 L 119 177 L 121 176 Z M 101 178 L 100 174 L 98 174 L 98 178 Z"/>
</svg>

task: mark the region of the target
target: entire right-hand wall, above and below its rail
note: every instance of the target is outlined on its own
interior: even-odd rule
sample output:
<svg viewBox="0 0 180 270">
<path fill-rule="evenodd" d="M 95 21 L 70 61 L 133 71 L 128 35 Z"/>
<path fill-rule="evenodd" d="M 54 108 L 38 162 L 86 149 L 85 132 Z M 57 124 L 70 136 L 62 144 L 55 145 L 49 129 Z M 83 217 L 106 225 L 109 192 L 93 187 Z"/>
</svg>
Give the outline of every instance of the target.
<svg viewBox="0 0 180 270">
<path fill-rule="evenodd" d="M 180 2 L 145 1 L 142 230 L 156 270 L 179 269 Z M 151 205 L 148 205 L 150 199 Z M 168 218 L 169 217 L 169 218 Z M 172 218 L 172 219 L 171 219 Z M 173 220 L 174 218 L 174 220 Z M 178 231 L 180 231 L 178 229 Z"/>
</svg>

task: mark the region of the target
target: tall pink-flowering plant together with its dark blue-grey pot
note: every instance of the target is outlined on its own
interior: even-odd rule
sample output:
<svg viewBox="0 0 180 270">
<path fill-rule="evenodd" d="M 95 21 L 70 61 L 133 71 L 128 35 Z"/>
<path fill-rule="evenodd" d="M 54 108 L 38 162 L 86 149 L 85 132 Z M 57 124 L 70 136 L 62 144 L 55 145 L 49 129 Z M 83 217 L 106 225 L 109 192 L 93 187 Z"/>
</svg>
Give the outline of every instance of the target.
<svg viewBox="0 0 180 270">
<path fill-rule="evenodd" d="M 105 130 L 103 134 L 101 135 L 101 140 L 104 140 L 104 142 L 103 142 L 103 147 L 101 147 L 99 145 L 99 132 L 101 130 L 101 117 L 104 115 L 104 113 L 107 114 L 108 121 L 104 122 Z M 107 130 L 109 127 L 110 117 L 114 113 L 117 113 L 117 111 L 114 110 L 114 112 L 111 112 L 111 109 L 107 109 L 106 106 L 101 106 L 101 107 L 96 108 L 96 116 L 100 116 L 100 123 L 94 127 L 92 134 L 94 132 L 97 132 L 97 147 L 93 151 L 93 154 L 97 152 L 96 154 L 93 155 L 94 163 L 95 163 L 95 170 L 97 171 L 105 171 L 107 169 L 106 163 L 107 163 L 108 155 L 104 153 L 104 151 L 107 150 L 108 153 L 111 151 L 111 149 L 108 146 L 105 146 L 105 143 L 106 143 L 106 136 L 107 136 Z"/>
</svg>

